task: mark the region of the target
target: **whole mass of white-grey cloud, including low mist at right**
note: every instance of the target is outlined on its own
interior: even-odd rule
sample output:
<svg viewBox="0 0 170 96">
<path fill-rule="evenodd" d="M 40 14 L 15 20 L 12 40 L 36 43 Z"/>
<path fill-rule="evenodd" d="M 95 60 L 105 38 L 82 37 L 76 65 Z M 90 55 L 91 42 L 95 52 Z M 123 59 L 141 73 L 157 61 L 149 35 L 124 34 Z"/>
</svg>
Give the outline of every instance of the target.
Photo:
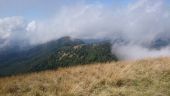
<svg viewBox="0 0 170 96">
<path fill-rule="evenodd" d="M 62 36 L 107 38 L 113 41 L 113 53 L 120 59 L 168 56 L 169 46 L 150 48 L 157 38 L 170 39 L 170 9 L 165 2 L 137 0 L 121 8 L 81 3 L 65 6 L 46 20 L 29 22 L 24 17 L 2 18 L 0 45 L 23 40 L 40 44 Z"/>
</svg>

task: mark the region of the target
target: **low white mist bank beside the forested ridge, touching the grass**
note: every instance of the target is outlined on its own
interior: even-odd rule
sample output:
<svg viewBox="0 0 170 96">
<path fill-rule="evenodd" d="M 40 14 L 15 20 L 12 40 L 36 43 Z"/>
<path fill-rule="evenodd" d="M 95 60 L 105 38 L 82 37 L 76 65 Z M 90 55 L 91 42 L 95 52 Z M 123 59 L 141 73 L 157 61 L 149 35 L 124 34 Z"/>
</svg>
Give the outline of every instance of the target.
<svg viewBox="0 0 170 96">
<path fill-rule="evenodd" d="M 164 47 L 162 49 L 149 49 L 141 45 L 121 45 L 113 46 L 112 52 L 121 60 L 135 60 L 147 57 L 164 57 L 170 56 L 170 47 Z"/>
</svg>

